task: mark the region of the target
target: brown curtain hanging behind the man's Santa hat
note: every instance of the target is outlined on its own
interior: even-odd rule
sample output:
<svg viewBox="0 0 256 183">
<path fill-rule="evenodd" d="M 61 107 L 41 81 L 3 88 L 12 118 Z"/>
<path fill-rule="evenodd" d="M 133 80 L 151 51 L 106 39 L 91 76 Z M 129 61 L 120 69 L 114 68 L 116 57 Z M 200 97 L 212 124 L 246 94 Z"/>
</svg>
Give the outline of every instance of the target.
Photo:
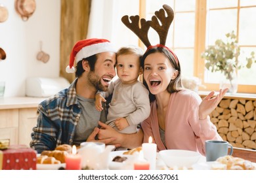
<svg viewBox="0 0 256 183">
<path fill-rule="evenodd" d="M 90 9 L 91 0 L 61 0 L 60 76 L 69 82 L 75 79 L 75 73 L 66 73 L 70 52 L 75 42 L 87 37 Z"/>
</svg>

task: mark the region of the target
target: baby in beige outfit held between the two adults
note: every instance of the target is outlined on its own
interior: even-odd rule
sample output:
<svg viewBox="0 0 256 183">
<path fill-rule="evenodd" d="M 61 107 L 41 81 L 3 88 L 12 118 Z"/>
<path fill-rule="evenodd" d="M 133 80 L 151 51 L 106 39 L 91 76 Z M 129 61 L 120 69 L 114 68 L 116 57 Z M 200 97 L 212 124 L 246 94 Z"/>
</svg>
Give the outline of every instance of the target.
<svg viewBox="0 0 256 183">
<path fill-rule="evenodd" d="M 113 94 L 108 108 L 106 124 L 121 133 L 135 133 L 137 125 L 150 115 L 148 90 L 138 80 L 142 75 L 140 58 L 142 49 L 137 46 L 122 47 L 117 51 L 117 80 L 109 85 L 108 92 L 96 94 L 95 107 L 101 111 L 102 101 Z"/>
</svg>

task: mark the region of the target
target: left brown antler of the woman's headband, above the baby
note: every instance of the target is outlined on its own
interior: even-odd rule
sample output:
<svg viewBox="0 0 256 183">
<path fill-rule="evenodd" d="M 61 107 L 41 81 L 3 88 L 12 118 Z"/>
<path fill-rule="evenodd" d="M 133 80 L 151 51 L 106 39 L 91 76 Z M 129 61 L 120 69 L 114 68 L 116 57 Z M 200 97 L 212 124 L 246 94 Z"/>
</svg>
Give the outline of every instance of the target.
<svg viewBox="0 0 256 183">
<path fill-rule="evenodd" d="M 145 44 L 146 47 L 150 46 L 150 41 L 148 40 L 148 30 L 150 28 L 150 24 L 144 18 L 140 19 L 139 15 L 130 16 L 131 23 L 129 22 L 129 18 L 127 15 L 121 18 L 123 24 L 126 25 L 131 31 L 133 31 L 137 37 Z M 139 20 L 141 28 L 139 27 Z"/>
</svg>

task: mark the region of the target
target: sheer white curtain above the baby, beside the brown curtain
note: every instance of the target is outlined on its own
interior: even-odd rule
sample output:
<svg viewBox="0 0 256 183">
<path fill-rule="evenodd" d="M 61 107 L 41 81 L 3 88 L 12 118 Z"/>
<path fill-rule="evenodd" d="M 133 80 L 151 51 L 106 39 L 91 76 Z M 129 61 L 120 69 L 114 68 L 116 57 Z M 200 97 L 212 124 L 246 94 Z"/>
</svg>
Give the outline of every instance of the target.
<svg viewBox="0 0 256 183">
<path fill-rule="evenodd" d="M 87 38 L 103 38 L 117 48 L 129 44 L 138 45 L 139 38 L 122 22 L 124 15 L 139 14 L 140 0 L 91 0 L 91 14 Z"/>
</svg>

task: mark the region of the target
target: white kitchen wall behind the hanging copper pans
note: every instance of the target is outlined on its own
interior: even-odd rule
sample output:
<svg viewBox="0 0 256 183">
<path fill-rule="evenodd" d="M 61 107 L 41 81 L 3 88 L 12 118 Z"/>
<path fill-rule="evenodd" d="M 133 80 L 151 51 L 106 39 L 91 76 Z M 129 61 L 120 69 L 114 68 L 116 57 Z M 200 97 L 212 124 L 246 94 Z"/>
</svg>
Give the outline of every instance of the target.
<svg viewBox="0 0 256 183">
<path fill-rule="evenodd" d="M 0 81 L 5 81 L 5 97 L 24 96 L 26 78 L 57 77 L 60 70 L 60 0 L 35 0 L 33 15 L 24 22 L 16 13 L 14 0 L 0 0 L 9 11 L 0 23 L 0 47 L 7 58 L 0 61 Z M 39 42 L 50 55 L 47 63 L 37 61 Z"/>
</svg>

